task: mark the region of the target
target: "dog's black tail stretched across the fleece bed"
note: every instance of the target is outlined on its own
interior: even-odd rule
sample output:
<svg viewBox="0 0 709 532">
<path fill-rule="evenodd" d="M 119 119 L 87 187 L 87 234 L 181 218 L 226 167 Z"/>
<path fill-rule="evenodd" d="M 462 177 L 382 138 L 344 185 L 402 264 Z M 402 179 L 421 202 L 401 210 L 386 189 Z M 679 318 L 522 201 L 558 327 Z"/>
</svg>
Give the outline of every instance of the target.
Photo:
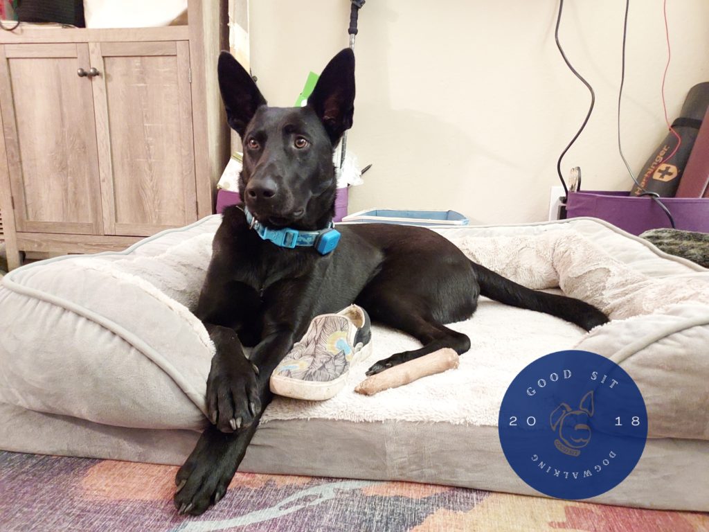
<svg viewBox="0 0 709 532">
<path fill-rule="evenodd" d="M 576 323 L 586 331 L 608 322 L 608 318 L 603 312 L 580 299 L 532 290 L 475 262 L 471 261 L 471 265 L 478 279 L 482 296 L 506 305 L 517 306 L 520 309 L 557 316 L 557 318 Z"/>
</svg>

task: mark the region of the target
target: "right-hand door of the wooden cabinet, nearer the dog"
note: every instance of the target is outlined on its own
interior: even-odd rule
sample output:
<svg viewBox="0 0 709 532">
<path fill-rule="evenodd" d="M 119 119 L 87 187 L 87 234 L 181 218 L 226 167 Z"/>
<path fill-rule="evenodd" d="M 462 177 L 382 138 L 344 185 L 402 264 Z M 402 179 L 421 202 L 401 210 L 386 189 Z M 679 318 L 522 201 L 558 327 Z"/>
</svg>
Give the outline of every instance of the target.
<svg viewBox="0 0 709 532">
<path fill-rule="evenodd" d="M 104 212 L 110 235 L 196 220 L 189 43 L 90 43 Z"/>
</svg>

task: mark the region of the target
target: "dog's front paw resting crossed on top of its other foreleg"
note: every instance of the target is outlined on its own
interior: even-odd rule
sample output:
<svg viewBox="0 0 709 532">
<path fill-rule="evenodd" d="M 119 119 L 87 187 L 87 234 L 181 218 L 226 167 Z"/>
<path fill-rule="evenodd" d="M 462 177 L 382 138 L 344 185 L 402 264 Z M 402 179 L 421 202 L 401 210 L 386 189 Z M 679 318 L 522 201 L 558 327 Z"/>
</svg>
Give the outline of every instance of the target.
<svg viewBox="0 0 709 532">
<path fill-rule="evenodd" d="M 250 426 L 261 409 L 258 368 L 243 355 L 215 355 L 207 379 L 209 420 L 223 432 Z"/>
</svg>

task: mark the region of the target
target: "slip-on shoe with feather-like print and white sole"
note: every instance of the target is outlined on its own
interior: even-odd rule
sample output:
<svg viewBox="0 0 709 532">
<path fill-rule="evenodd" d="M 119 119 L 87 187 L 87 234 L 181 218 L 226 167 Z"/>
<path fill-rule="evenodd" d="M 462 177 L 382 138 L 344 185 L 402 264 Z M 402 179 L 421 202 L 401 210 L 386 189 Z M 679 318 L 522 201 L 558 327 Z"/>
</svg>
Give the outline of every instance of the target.
<svg viewBox="0 0 709 532">
<path fill-rule="evenodd" d="M 337 314 L 321 314 L 271 375 L 277 395 L 324 401 L 345 386 L 350 365 L 372 352 L 369 315 L 357 305 Z"/>
</svg>

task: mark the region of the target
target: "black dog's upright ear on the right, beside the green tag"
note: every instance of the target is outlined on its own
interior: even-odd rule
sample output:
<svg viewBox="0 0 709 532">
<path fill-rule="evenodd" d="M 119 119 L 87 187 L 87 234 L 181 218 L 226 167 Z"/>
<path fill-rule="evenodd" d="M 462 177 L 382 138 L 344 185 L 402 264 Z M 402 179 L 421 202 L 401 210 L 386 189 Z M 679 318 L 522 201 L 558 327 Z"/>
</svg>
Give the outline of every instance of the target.
<svg viewBox="0 0 709 532">
<path fill-rule="evenodd" d="M 342 133 L 352 127 L 354 115 L 354 52 L 345 48 L 339 52 L 320 74 L 308 106 L 320 118 L 333 146 Z"/>
</svg>

